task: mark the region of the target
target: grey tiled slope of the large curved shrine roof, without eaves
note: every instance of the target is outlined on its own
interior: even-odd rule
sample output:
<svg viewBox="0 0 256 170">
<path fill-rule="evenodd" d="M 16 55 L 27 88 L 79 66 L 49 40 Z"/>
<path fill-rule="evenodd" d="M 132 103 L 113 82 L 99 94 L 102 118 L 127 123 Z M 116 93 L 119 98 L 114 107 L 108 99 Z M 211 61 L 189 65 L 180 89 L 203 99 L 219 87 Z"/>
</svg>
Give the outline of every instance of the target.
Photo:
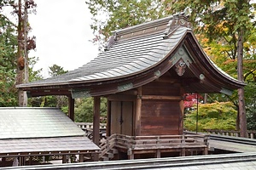
<svg viewBox="0 0 256 170">
<path fill-rule="evenodd" d="M 166 25 L 170 20 L 172 20 L 172 17 L 154 20 L 140 26 L 117 31 L 117 35 L 121 37 L 124 32 L 127 34 L 127 31 L 128 33 L 131 31 L 132 34 L 132 31 L 142 30 L 144 27 L 157 28 L 155 25 L 164 26 L 150 34 L 121 38 L 114 42 L 109 50 L 99 54 L 95 59 L 74 71 L 69 71 L 61 76 L 51 77 L 38 82 L 21 84 L 17 87 L 57 85 L 84 81 L 97 82 L 104 81 L 104 79 L 109 80 L 128 77 L 138 72 L 148 70 L 160 63 L 162 59 L 165 59 L 167 54 L 182 40 L 186 32 L 191 31 L 189 27 L 178 26 L 175 31 L 172 32 L 171 37 L 164 38 Z"/>
</svg>

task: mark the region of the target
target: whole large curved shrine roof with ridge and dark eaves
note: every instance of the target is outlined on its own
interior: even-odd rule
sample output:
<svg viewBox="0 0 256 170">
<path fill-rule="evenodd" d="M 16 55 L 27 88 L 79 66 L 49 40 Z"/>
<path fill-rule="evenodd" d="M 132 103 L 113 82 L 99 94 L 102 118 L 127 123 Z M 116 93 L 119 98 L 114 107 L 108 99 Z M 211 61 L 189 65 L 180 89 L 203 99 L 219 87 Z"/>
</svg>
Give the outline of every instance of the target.
<svg viewBox="0 0 256 170">
<path fill-rule="evenodd" d="M 187 56 L 178 54 L 181 48 L 185 52 L 183 54 Z M 33 94 L 34 96 L 47 94 L 45 90 L 50 91 L 49 94 L 67 95 L 81 89 L 84 95 L 89 96 L 113 94 L 154 81 L 174 68 L 174 65 L 179 62 L 178 59 L 183 59 L 189 67 L 184 77 L 189 76 L 190 72 L 190 76 L 198 80 L 204 77 L 210 77 L 206 80 L 213 80 L 208 82 L 208 86 L 204 84 L 204 87 L 201 84 L 192 84 L 190 88 L 185 88 L 188 92 L 220 93 L 244 86 L 243 82 L 228 76 L 212 63 L 196 41 L 187 18 L 183 14 L 177 14 L 114 31 L 105 51 L 96 59 L 59 77 L 20 84 L 17 88 L 31 93 L 37 91 L 38 94 Z M 170 62 L 168 64 L 166 60 L 172 61 L 172 64 Z M 158 76 L 155 77 L 153 73 L 149 77 L 150 71 L 159 72 Z M 140 79 L 141 82 L 136 79 Z M 105 87 L 103 87 L 104 84 Z M 121 87 L 122 90 L 120 90 L 119 85 L 124 84 L 125 88 Z M 216 84 L 217 87 L 211 87 L 212 84 Z"/>
</svg>

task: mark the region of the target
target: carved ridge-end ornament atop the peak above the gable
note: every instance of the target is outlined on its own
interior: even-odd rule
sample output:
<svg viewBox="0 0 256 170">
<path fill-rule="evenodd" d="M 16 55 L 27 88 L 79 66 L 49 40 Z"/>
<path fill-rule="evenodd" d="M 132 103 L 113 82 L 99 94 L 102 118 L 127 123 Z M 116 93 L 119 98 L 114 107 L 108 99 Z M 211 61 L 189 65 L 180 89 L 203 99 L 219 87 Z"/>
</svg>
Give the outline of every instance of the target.
<svg viewBox="0 0 256 170">
<path fill-rule="evenodd" d="M 191 23 L 189 22 L 189 16 L 185 15 L 184 12 L 173 14 L 171 20 L 168 22 L 166 26 L 164 39 L 170 37 L 172 32 L 177 29 L 179 26 L 185 26 L 188 28 L 192 28 Z"/>
</svg>

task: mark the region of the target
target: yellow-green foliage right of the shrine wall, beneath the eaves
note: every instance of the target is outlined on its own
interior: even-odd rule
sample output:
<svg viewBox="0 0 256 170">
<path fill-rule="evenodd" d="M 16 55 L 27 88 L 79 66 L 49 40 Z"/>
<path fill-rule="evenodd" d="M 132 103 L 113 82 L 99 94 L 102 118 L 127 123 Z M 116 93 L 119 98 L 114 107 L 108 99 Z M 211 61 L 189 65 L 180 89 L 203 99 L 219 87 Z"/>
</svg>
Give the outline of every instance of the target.
<svg viewBox="0 0 256 170">
<path fill-rule="evenodd" d="M 212 104 L 199 104 L 198 131 L 204 129 L 236 129 L 236 107 L 231 102 L 216 102 Z M 196 130 L 197 111 L 186 114 L 184 127 Z"/>
</svg>

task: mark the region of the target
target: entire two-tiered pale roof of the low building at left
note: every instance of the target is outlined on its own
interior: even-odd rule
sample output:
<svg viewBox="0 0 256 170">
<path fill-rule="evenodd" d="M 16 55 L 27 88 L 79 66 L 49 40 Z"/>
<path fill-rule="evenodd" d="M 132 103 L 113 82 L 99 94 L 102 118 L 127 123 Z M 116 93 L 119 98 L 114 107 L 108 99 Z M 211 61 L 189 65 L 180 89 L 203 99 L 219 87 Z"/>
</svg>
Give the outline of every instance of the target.
<svg viewBox="0 0 256 170">
<path fill-rule="evenodd" d="M 0 156 L 79 154 L 99 150 L 59 109 L 4 107 L 0 108 L 0 116 Z"/>
</svg>

